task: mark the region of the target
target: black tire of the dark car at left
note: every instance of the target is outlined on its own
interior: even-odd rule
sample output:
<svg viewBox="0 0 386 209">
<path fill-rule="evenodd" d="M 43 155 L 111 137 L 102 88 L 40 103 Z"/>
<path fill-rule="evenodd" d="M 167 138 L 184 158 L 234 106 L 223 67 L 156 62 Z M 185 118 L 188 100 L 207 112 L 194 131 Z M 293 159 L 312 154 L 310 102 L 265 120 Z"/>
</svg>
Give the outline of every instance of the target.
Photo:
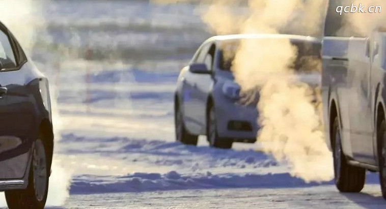
<svg viewBox="0 0 386 209">
<path fill-rule="evenodd" d="M 44 208 L 48 194 L 48 162 L 44 143 L 38 139 L 34 146 L 29 172 L 29 183 L 24 190 L 5 192 L 8 207 L 13 208 Z"/>
</svg>

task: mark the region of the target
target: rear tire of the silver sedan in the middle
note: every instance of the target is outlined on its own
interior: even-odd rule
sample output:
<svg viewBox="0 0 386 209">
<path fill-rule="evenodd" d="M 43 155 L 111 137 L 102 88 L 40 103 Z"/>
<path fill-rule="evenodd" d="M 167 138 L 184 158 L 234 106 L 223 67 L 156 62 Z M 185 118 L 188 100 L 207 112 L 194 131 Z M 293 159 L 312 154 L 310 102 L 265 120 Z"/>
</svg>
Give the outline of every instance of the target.
<svg viewBox="0 0 386 209">
<path fill-rule="evenodd" d="M 181 143 L 187 144 L 187 145 L 197 146 L 198 136 L 192 135 L 186 130 L 184 121 L 182 119 L 183 115 L 178 103 L 176 104 L 174 117 L 175 117 L 174 123 L 175 123 L 175 130 L 176 130 L 176 141 L 180 141 Z"/>
</svg>

